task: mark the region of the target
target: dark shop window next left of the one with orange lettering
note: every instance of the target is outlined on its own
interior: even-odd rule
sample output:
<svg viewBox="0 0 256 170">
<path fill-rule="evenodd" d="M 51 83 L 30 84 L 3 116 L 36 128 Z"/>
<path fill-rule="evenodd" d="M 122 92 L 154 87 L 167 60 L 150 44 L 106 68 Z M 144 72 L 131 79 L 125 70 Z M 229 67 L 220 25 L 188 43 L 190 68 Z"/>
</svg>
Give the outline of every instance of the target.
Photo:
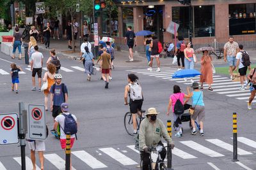
<svg viewBox="0 0 256 170">
<path fill-rule="evenodd" d="M 215 36 L 214 6 L 194 6 L 195 37 Z"/>
</svg>

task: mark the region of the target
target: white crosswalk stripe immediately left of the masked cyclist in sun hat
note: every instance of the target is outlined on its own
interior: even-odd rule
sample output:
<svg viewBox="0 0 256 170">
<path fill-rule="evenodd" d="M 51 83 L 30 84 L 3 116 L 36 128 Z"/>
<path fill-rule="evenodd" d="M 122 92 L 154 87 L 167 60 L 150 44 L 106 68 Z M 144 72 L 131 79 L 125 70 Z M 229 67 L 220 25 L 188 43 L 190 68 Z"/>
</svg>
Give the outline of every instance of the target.
<svg viewBox="0 0 256 170">
<path fill-rule="evenodd" d="M 126 157 L 123 153 L 118 152 L 114 148 L 100 148 L 99 150 L 101 150 L 102 152 L 109 155 L 109 157 L 117 160 L 118 162 L 120 162 L 124 166 L 130 166 L 130 165 L 138 164 L 137 162 L 130 159 L 129 157 Z"/>
</svg>

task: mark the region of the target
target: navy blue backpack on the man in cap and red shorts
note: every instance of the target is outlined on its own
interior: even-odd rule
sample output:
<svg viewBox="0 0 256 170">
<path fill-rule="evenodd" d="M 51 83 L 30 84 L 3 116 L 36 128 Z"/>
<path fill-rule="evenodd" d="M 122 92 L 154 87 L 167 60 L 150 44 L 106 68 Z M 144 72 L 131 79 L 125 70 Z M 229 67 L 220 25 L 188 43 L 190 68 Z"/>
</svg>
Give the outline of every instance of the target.
<svg viewBox="0 0 256 170">
<path fill-rule="evenodd" d="M 65 134 L 67 132 L 70 132 L 70 134 L 76 134 L 77 133 L 77 124 L 74 117 L 72 117 L 72 114 L 66 115 L 65 113 L 62 113 L 65 117 L 65 123 L 64 123 L 64 129 L 61 127 L 61 129 L 64 131 Z"/>
</svg>

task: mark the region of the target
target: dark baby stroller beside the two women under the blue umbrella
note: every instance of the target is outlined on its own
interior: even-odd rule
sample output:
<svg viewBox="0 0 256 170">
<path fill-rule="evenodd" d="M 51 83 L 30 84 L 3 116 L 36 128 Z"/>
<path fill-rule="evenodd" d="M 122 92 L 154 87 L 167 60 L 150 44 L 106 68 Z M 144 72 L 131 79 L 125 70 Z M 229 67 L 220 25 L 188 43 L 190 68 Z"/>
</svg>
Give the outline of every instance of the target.
<svg viewBox="0 0 256 170">
<path fill-rule="evenodd" d="M 181 118 L 177 118 L 176 122 L 173 123 L 173 127 L 174 127 L 175 131 L 178 130 L 176 128 L 179 127 L 178 124 L 180 122 L 189 122 L 189 128 L 193 129 L 193 127 L 191 125 L 190 113 L 188 112 L 190 106 L 191 106 L 190 104 L 184 104 L 184 113 L 182 113 Z M 200 130 L 200 125 L 196 122 L 196 120 L 195 120 L 195 125 L 196 125 L 197 129 Z M 182 132 L 183 132 L 183 128 L 182 128 Z"/>
</svg>

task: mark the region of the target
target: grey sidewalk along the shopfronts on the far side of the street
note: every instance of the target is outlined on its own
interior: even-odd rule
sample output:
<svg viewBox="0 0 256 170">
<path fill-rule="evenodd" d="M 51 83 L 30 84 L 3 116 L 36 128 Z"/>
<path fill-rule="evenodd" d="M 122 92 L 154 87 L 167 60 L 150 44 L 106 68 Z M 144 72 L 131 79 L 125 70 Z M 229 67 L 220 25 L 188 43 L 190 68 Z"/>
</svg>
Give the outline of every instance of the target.
<svg viewBox="0 0 256 170">
<path fill-rule="evenodd" d="M 83 43 L 83 41 L 81 41 L 81 43 Z M 56 53 L 58 56 L 60 57 L 65 57 L 66 59 L 77 59 L 80 56 L 80 41 L 79 39 L 76 41 L 76 52 L 74 53 L 72 50 L 70 50 L 68 48 L 68 41 L 65 39 L 51 39 L 51 43 L 50 43 L 50 48 L 45 48 L 45 45 L 38 43 L 39 46 L 39 50 L 46 50 L 46 51 L 50 51 L 52 48 L 54 48 L 56 50 Z M 250 59 L 253 62 L 252 64 L 255 64 L 256 61 L 256 50 L 246 50 L 249 55 L 250 55 Z M 145 53 L 138 53 L 138 52 L 134 52 L 134 61 L 130 62 L 129 61 L 129 52 L 128 51 L 117 51 L 115 50 L 115 60 L 114 60 L 114 64 L 117 67 L 145 67 L 148 66 L 148 62 L 145 56 Z M 200 60 L 202 55 L 198 54 L 198 60 Z M 222 65 L 223 66 L 227 66 L 227 62 L 224 62 L 223 59 L 216 59 L 214 56 L 212 56 L 213 59 L 213 64 L 214 65 Z M 172 58 L 167 57 L 166 59 L 164 59 L 163 57 L 160 59 L 161 61 L 161 66 L 173 66 L 172 65 Z M 176 66 L 176 64 L 174 65 Z M 200 63 L 197 62 L 195 64 L 195 66 L 200 66 Z M 154 60 L 154 66 L 156 67 L 156 60 Z"/>
</svg>

